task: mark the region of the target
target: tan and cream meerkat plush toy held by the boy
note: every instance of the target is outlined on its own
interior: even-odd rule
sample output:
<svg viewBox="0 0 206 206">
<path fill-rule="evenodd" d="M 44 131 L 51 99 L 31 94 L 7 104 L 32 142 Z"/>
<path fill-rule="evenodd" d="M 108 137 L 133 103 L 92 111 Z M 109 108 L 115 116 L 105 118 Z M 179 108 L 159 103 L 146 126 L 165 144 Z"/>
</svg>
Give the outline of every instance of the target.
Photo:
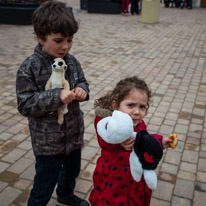
<svg viewBox="0 0 206 206">
<path fill-rule="evenodd" d="M 61 58 L 54 59 L 54 62 L 52 63 L 52 74 L 49 78 L 49 80 L 46 83 L 46 90 L 54 89 L 54 88 L 64 88 L 64 89 L 70 89 L 69 88 L 69 82 L 65 79 L 65 71 L 67 69 L 67 65 L 65 61 Z M 58 123 L 62 124 L 64 121 L 64 114 L 68 112 L 67 110 L 67 104 L 64 104 L 63 106 L 59 107 L 57 109 L 58 111 Z"/>
</svg>

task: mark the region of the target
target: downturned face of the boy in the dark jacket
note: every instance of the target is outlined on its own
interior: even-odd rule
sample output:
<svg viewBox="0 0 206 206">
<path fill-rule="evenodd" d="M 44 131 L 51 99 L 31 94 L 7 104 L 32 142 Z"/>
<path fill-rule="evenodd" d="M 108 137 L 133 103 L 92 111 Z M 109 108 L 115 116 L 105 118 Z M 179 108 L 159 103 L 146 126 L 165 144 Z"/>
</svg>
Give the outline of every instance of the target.
<svg viewBox="0 0 206 206">
<path fill-rule="evenodd" d="M 51 33 L 46 36 L 46 40 L 37 36 L 37 40 L 42 45 L 42 51 L 54 58 L 63 58 L 72 47 L 72 38 L 61 33 Z"/>
</svg>

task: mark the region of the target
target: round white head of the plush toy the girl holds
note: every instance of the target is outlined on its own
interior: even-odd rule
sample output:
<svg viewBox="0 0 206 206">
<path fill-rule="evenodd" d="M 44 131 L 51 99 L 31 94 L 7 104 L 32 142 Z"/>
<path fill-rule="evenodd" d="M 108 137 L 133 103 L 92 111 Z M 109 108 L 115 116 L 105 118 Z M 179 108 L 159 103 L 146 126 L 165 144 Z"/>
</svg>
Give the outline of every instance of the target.
<svg viewBox="0 0 206 206">
<path fill-rule="evenodd" d="M 97 131 L 102 139 L 110 144 L 119 144 L 134 136 L 131 117 L 117 110 L 112 113 L 112 117 L 98 122 Z"/>
</svg>

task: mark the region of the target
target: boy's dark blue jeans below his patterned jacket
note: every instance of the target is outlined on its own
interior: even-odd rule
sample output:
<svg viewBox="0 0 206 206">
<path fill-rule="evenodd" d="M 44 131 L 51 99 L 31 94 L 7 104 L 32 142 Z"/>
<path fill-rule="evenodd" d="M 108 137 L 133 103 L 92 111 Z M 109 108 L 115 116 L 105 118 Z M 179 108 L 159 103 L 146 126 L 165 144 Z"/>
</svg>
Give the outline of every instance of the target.
<svg viewBox="0 0 206 206">
<path fill-rule="evenodd" d="M 28 206 L 46 206 L 56 183 L 58 196 L 64 198 L 73 194 L 80 167 L 81 149 L 69 155 L 36 156 L 36 175 Z"/>
</svg>

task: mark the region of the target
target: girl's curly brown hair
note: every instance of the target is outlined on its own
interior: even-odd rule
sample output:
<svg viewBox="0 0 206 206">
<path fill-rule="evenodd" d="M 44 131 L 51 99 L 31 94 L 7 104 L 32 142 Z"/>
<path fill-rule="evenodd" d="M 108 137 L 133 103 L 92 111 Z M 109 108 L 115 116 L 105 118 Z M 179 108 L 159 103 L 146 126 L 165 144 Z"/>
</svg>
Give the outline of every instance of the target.
<svg viewBox="0 0 206 206">
<path fill-rule="evenodd" d="M 108 92 L 105 96 L 95 100 L 94 108 L 101 107 L 113 111 L 112 102 L 115 102 L 115 105 L 118 108 L 121 101 L 130 93 L 132 89 L 139 89 L 147 94 L 147 106 L 149 108 L 149 102 L 152 97 L 151 90 L 149 89 L 144 80 L 139 79 L 136 76 L 120 80 L 111 92 Z"/>
</svg>

